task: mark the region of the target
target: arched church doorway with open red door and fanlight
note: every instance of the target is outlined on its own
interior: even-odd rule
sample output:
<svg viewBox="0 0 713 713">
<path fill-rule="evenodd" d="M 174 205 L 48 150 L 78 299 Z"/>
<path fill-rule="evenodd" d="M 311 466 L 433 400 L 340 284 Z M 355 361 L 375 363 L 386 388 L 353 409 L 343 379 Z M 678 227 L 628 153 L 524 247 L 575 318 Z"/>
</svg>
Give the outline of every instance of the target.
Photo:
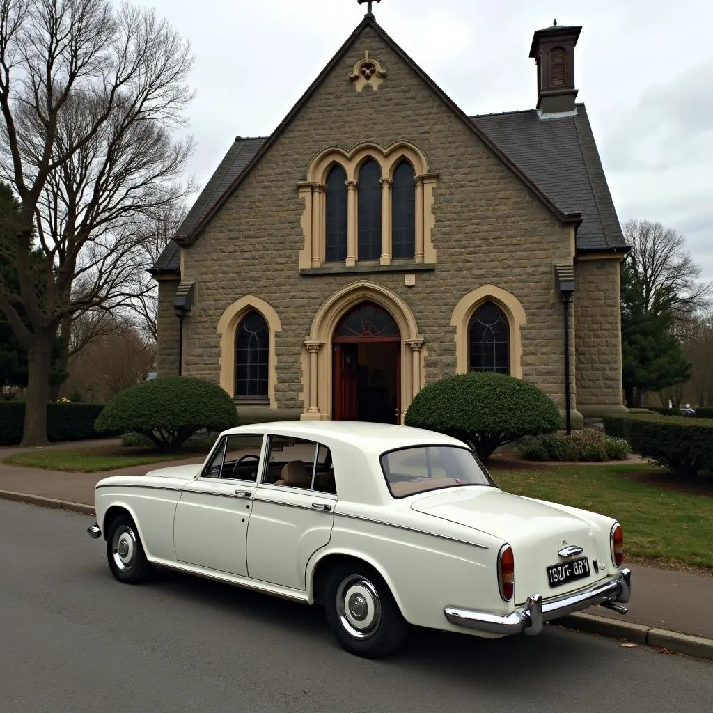
<svg viewBox="0 0 713 713">
<path fill-rule="evenodd" d="M 360 302 L 332 334 L 335 420 L 401 421 L 401 332 L 374 302 Z"/>
</svg>

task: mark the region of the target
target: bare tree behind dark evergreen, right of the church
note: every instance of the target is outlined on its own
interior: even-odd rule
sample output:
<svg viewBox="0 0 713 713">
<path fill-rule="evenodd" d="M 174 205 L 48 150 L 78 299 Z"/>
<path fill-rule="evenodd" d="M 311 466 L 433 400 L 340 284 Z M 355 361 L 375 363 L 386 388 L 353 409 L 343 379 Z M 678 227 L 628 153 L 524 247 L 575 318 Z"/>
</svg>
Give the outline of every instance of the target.
<svg viewBox="0 0 713 713">
<path fill-rule="evenodd" d="M 713 297 L 713 285 L 700 278 L 702 269 L 686 250 L 681 233 L 650 220 L 627 220 L 627 257 L 640 281 L 643 307 L 652 314 L 671 314 L 680 336 Z"/>
</svg>

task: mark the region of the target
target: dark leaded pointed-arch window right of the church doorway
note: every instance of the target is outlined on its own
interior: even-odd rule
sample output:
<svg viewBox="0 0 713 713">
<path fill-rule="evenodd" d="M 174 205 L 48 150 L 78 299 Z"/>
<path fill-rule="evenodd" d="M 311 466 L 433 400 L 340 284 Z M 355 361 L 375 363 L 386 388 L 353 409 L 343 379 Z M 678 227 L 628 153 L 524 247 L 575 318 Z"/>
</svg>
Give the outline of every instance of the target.
<svg viewBox="0 0 713 713">
<path fill-rule="evenodd" d="M 468 324 L 468 370 L 510 373 L 510 325 L 497 304 L 483 302 Z"/>
</svg>

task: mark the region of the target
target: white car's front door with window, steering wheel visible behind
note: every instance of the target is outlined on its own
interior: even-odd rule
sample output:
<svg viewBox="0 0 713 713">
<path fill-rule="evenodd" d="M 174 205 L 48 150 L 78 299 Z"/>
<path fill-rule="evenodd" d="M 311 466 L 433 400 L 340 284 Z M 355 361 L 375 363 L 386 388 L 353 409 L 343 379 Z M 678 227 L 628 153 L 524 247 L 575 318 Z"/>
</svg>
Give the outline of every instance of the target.
<svg viewBox="0 0 713 713">
<path fill-rule="evenodd" d="M 247 526 L 264 441 L 262 434 L 225 436 L 183 488 L 173 520 L 178 562 L 247 576 Z"/>
</svg>

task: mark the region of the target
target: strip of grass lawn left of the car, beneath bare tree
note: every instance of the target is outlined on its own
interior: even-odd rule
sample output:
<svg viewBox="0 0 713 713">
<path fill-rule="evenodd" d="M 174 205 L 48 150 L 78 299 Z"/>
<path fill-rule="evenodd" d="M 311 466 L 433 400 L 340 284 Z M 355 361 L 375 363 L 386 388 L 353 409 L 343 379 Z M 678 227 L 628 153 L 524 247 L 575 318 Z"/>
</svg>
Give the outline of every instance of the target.
<svg viewBox="0 0 713 713">
<path fill-rule="evenodd" d="M 26 453 L 16 453 L 4 458 L 3 463 L 28 468 L 45 468 L 49 471 L 71 473 L 97 473 L 131 466 L 148 466 L 161 461 L 195 458 L 207 455 L 208 448 L 184 448 L 178 453 L 158 453 L 150 448 L 124 448 L 99 446 L 94 448 L 45 448 Z"/>
</svg>

